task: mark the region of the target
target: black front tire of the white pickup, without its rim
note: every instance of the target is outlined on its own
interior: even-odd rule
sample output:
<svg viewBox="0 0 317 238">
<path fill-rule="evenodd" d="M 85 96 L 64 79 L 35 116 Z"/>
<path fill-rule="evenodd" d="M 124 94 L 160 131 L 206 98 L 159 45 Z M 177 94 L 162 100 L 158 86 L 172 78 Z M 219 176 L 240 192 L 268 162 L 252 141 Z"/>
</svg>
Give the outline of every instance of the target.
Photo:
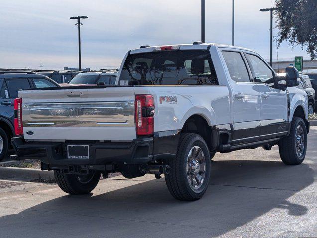
<svg viewBox="0 0 317 238">
<path fill-rule="evenodd" d="M 302 154 L 299 155 L 297 153 L 296 147 L 296 130 L 299 126 L 303 129 L 303 138 L 304 138 L 304 145 Z M 307 148 L 307 131 L 306 126 L 303 119 L 299 117 L 294 117 L 291 123 L 291 130 L 288 136 L 285 136 L 279 142 L 279 152 L 280 157 L 284 164 L 286 165 L 299 165 L 303 162 L 306 155 L 306 148 Z"/>
</svg>

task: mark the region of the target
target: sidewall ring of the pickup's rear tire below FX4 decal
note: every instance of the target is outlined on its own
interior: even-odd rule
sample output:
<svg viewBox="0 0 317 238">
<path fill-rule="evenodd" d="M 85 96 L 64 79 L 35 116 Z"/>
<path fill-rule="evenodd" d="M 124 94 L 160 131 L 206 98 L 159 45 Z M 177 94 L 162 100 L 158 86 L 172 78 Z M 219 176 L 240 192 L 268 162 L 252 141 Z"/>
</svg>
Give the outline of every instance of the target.
<svg viewBox="0 0 317 238">
<path fill-rule="evenodd" d="M 187 172 L 186 172 L 187 155 L 194 146 L 199 146 L 202 149 L 204 156 L 205 156 L 205 164 L 206 164 L 205 178 L 203 181 L 203 185 L 199 189 L 197 189 L 196 191 L 194 191 L 191 188 L 191 186 L 188 184 Z M 187 188 L 187 191 L 190 193 L 190 195 L 192 197 L 200 198 L 201 194 L 204 194 L 204 192 L 206 191 L 206 189 L 208 187 L 209 178 L 210 178 L 210 168 L 211 168 L 211 160 L 210 160 L 210 156 L 209 156 L 208 147 L 207 147 L 205 141 L 203 140 L 203 138 L 201 138 L 200 136 L 195 136 L 193 139 L 191 139 L 189 141 L 189 143 L 186 146 L 186 150 L 183 152 L 183 170 L 182 170 L 183 171 L 183 179 L 185 181 L 185 186 Z"/>
</svg>

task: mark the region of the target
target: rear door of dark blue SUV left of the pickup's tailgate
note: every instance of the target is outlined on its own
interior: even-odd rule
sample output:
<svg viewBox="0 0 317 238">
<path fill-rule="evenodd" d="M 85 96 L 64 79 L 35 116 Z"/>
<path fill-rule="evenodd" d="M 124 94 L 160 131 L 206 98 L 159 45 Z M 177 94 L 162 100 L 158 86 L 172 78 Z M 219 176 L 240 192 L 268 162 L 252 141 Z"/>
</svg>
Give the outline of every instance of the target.
<svg viewBox="0 0 317 238">
<path fill-rule="evenodd" d="M 2 80 L 0 91 L 0 114 L 9 119 L 12 124 L 14 121 L 14 99 L 20 89 L 29 89 L 30 83 L 27 78 L 7 78 Z"/>
</svg>

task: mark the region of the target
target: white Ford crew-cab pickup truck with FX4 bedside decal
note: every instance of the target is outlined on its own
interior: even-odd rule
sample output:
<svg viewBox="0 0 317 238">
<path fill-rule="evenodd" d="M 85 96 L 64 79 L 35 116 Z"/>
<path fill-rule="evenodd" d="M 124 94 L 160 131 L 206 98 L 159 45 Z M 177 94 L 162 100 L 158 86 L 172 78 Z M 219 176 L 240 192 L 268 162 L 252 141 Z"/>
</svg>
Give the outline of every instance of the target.
<svg viewBox="0 0 317 238">
<path fill-rule="evenodd" d="M 218 44 L 129 51 L 115 86 L 19 91 L 16 159 L 39 159 L 70 194 L 101 174 L 165 174 L 170 193 L 205 193 L 215 152 L 279 146 L 287 165 L 306 154 L 307 95 L 298 72 L 278 77 L 254 51 Z"/>
</svg>

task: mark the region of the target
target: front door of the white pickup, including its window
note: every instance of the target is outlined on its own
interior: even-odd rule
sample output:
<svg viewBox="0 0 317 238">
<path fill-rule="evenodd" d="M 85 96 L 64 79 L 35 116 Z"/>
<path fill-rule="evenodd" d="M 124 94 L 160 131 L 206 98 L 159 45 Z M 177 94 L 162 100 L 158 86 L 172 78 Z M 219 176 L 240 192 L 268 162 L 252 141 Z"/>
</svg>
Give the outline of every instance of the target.
<svg viewBox="0 0 317 238">
<path fill-rule="evenodd" d="M 261 140 L 281 136 L 288 129 L 287 91 L 272 87 L 273 83 L 270 81 L 275 77 L 275 73 L 260 56 L 253 52 L 246 52 L 245 55 L 253 81 L 261 94 Z"/>
</svg>

